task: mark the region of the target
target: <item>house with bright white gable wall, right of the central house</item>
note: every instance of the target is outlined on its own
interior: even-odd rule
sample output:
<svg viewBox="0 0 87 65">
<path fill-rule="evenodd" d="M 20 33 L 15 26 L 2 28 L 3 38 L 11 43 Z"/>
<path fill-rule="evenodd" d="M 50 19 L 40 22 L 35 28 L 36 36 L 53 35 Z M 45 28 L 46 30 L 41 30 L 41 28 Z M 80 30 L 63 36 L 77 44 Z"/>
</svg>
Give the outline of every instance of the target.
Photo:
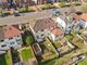
<svg viewBox="0 0 87 65">
<path fill-rule="evenodd" d="M 65 14 L 55 18 L 57 26 L 60 27 L 65 34 L 70 34 L 73 29 L 74 23 L 72 23 L 72 16 Z"/>
</svg>

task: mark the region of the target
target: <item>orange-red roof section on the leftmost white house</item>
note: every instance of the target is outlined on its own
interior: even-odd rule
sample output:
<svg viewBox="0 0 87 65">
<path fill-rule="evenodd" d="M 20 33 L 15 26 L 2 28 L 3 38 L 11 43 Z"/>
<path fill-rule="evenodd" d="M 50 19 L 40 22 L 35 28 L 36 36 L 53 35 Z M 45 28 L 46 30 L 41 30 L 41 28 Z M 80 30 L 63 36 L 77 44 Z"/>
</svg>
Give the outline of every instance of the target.
<svg viewBox="0 0 87 65">
<path fill-rule="evenodd" d="M 4 38 L 11 38 L 11 37 L 21 35 L 21 31 L 14 26 L 3 27 L 3 32 L 4 32 Z"/>
</svg>

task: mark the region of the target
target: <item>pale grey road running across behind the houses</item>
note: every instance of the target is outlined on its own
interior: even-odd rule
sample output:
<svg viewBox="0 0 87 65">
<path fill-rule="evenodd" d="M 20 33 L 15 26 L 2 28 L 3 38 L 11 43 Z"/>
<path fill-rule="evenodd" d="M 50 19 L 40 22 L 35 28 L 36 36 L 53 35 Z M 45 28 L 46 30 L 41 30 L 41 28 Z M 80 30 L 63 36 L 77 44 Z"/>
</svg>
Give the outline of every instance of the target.
<svg viewBox="0 0 87 65">
<path fill-rule="evenodd" d="M 75 6 L 75 9 L 79 9 L 80 6 Z M 60 12 L 67 12 L 70 11 L 70 8 L 60 8 L 58 9 Z M 53 11 L 51 10 L 44 10 L 41 12 L 32 12 L 32 13 L 23 13 L 21 16 L 7 16 L 0 18 L 0 26 L 3 25 L 16 25 L 16 24 L 24 24 L 24 23 L 29 23 L 35 20 L 40 20 L 40 18 L 47 18 L 47 17 L 52 17 Z"/>
</svg>

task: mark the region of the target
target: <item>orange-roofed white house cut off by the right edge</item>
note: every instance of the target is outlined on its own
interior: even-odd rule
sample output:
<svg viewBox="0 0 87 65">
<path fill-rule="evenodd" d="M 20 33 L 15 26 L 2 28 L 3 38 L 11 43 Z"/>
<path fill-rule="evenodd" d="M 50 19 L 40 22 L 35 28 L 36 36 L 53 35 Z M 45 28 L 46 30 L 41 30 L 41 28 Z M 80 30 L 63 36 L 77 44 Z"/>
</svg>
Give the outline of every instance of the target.
<svg viewBox="0 0 87 65">
<path fill-rule="evenodd" d="M 76 24 L 79 26 L 79 28 L 86 28 L 87 27 L 87 13 L 74 13 L 73 17 L 76 22 Z"/>
</svg>

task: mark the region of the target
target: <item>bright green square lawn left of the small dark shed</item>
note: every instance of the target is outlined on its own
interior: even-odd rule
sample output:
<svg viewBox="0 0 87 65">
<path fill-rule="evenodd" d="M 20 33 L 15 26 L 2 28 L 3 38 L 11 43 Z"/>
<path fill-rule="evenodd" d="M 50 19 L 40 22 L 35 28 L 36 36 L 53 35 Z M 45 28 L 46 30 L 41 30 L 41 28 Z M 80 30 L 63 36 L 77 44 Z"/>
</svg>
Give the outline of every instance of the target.
<svg viewBox="0 0 87 65">
<path fill-rule="evenodd" d="M 33 50 L 30 49 L 30 47 L 28 48 L 24 48 L 22 51 L 21 51 L 21 55 L 22 55 L 22 60 L 24 62 L 30 60 L 34 57 L 34 53 L 33 53 Z"/>
</svg>

